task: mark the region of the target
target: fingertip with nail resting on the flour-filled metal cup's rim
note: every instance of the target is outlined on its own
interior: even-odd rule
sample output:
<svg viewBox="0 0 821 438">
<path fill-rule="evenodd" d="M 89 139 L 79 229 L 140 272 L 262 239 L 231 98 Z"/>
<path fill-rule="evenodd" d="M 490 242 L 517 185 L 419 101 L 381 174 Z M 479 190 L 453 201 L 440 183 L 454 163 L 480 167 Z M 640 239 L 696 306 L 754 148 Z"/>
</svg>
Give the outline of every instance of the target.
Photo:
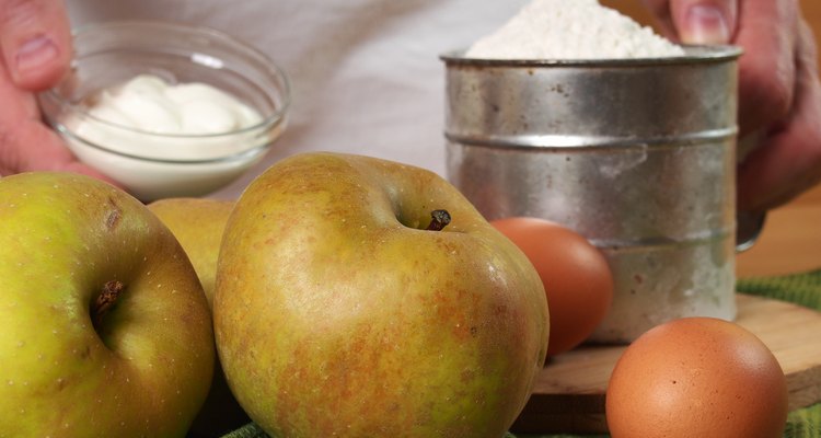
<svg viewBox="0 0 821 438">
<path fill-rule="evenodd" d="M 728 44 L 736 33 L 738 0 L 670 0 L 670 15 L 684 44 Z"/>
</svg>

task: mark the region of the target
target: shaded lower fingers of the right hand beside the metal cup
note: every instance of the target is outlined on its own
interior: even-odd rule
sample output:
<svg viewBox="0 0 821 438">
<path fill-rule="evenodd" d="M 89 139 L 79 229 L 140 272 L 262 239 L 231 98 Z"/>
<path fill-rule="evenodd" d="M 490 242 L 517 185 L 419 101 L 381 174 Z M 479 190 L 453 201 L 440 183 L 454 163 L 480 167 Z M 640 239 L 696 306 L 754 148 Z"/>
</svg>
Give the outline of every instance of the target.
<svg viewBox="0 0 821 438">
<path fill-rule="evenodd" d="M 821 181 L 821 83 L 811 31 L 800 23 L 796 51 L 795 104 L 777 131 L 739 168 L 738 207 L 763 211 Z"/>
</svg>

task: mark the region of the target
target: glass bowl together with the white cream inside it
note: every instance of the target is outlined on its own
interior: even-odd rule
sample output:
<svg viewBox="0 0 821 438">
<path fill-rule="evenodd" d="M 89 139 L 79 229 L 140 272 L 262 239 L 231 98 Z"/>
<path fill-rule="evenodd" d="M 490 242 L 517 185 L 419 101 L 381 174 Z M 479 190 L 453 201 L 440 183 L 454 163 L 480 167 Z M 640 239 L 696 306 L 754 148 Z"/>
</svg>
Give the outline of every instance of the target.
<svg viewBox="0 0 821 438">
<path fill-rule="evenodd" d="M 72 70 L 39 95 L 78 159 L 143 201 L 205 196 L 259 162 L 282 134 L 286 73 L 229 35 L 109 22 L 74 34 Z"/>
</svg>

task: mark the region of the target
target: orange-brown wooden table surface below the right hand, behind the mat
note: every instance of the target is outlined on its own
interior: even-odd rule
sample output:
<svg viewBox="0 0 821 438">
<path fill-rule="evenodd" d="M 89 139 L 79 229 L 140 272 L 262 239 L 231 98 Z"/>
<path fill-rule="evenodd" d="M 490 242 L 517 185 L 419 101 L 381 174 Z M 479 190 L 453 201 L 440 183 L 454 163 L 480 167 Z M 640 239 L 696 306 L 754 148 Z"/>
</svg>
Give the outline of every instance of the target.
<svg viewBox="0 0 821 438">
<path fill-rule="evenodd" d="M 821 268 L 821 185 L 771 210 L 759 240 L 736 263 L 739 278 Z"/>
</svg>

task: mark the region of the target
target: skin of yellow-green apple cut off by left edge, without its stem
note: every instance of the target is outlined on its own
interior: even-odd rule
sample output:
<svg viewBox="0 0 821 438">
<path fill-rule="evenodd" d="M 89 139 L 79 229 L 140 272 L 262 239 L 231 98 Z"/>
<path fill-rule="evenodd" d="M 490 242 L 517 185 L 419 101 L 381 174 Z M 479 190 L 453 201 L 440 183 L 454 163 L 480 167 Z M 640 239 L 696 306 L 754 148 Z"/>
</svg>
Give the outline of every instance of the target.
<svg viewBox="0 0 821 438">
<path fill-rule="evenodd" d="M 184 437 L 216 355 L 167 228 L 119 188 L 53 172 L 0 180 L 0 223 L 2 434 Z M 124 288 L 102 312 L 113 281 Z"/>
</svg>

